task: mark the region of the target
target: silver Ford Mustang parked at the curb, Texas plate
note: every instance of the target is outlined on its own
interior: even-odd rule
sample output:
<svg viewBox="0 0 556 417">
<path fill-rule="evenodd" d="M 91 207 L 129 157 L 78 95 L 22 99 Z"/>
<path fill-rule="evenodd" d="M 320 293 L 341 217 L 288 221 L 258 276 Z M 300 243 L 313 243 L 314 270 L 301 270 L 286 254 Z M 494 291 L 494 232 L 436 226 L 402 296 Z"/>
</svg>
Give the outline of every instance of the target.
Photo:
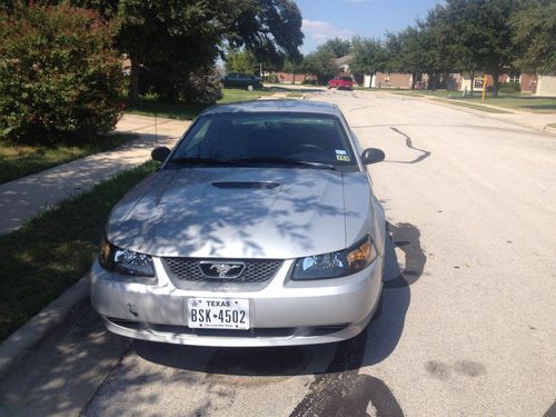
<svg viewBox="0 0 556 417">
<path fill-rule="evenodd" d="M 91 270 L 109 330 L 202 346 L 340 341 L 379 311 L 385 215 L 339 109 L 216 106 L 113 208 Z"/>
</svg>

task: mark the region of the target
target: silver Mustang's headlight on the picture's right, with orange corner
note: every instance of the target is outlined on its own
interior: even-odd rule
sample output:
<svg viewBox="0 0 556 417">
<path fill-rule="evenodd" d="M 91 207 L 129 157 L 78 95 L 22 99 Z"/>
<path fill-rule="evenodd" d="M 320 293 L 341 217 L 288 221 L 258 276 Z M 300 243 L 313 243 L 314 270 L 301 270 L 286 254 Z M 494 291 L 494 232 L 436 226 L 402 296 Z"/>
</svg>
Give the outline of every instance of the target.
<svg viewBox="0 0 556 417">
<path fill-rule="evenodd" d="M 345 277 L 365 269 L 376 257 L 375 244 L 370 239 L 370 236 L 367 236 L 351 248 L 298 259 L 291 272 L 291 279 Z"/>
</svg>

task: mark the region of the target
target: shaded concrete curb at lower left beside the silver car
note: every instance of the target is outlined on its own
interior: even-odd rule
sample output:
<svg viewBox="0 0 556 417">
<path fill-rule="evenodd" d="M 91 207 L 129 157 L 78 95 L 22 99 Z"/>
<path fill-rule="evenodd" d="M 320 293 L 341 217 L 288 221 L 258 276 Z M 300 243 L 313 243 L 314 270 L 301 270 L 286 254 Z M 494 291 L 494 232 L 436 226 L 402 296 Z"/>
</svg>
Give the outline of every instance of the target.
<svg viewBox="0 0 556 417">
<path fill-rule="evenodd" d="M 42 340 L 61 327 L 73 310 L 89 299 L 89 277 L 83 277 L 40 310 L 0 345 L 0 379 L 33 353 Z"/>
</svg>

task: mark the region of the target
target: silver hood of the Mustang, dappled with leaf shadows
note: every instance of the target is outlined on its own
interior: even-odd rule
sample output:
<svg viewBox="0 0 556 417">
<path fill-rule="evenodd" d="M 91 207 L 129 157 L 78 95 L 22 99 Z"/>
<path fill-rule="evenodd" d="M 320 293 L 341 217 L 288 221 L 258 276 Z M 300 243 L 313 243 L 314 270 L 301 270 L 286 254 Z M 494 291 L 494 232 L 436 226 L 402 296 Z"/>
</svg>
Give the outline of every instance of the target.
<svg viewBox="0 0 556 417">
<path fill-rule="evenodd" d="M 115 207 L 107 237 L 153 256 L 297 258 L 344 249 L 365 236 L 369 193 L 361 172 L 162 170 Z"/>
</svg>

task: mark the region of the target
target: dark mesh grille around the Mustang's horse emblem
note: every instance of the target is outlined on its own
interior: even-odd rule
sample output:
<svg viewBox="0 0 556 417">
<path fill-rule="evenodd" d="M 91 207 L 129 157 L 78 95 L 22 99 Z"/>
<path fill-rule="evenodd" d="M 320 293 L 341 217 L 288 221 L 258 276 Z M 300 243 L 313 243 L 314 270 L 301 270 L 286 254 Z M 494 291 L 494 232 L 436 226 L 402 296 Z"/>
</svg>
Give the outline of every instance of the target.
<svg viewBox="0 0 556 417">
<path fill-rule="evenodd" d="M 264 282 L 272 278 L 282 264 L 282 260 L 278 259 L 162 258 L 162 261 L 175 278 L 197 282 Z M 201 272 L 201 261 L 242 262 L 246 268 L 237 278 L 209 278 Z"/>
</svg>

